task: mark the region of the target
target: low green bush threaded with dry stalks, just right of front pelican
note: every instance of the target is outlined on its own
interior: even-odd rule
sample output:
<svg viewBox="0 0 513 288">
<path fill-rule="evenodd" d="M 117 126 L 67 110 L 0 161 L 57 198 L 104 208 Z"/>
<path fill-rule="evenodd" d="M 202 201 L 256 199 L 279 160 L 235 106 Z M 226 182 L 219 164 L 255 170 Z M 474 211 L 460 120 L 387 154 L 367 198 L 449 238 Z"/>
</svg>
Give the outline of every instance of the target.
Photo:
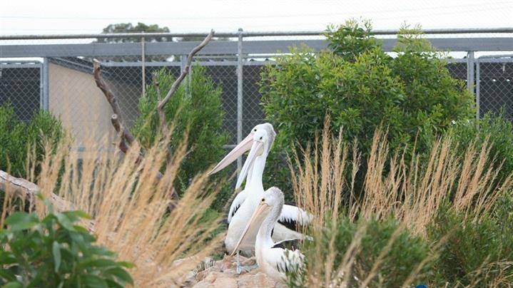
<svg viewBox="0 0 513 288">
<path fill-rule="evenodd" d="M 340 216 L 335 227 L 333 222 L 327 222 L 322 233 L 315 235 L 319 237 L 305 242 L 302 248 L 307 259 L 306 271 L 288 275 L 291 286 L 313 284 L 305 275 L 312 275 L 313 271 L 318 271 L 315 267 L 325 267 L 325 262 L 330 262 L 332 271 L 324 269 L 321 273 L 330 273 L 326 275 L 327 279 L 338 278 L 340 282 L 333 282 L 334 286 L 345 281 L 348 287 L 362 284 L 364 287 L 401 287 L 430 254 L 427 241 L 412 235 L 391 218 L 352 222 L 349 217 Z M 345 271 L 346 267 L 350 269 Z M 429 269 L 430 262 L 425 262 L 410 281 L 424 282 L 429 278 Z M 322 275 L 315 277 L 325 279 Z"/>
</svg>

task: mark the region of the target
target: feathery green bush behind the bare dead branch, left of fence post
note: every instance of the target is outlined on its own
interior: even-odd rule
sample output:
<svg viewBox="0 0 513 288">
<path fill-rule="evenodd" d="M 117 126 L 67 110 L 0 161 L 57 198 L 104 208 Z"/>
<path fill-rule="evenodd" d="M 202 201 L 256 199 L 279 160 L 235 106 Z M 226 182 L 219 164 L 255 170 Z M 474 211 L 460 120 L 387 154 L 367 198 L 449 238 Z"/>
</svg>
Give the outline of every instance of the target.
<svg viewBox="0 0 513 288">
<path fill-rule="evenodd" d="M 157 73 L 161 92 L 164 94 L 171 88 L 175 78 L 166 69 Z M 215 164 L 223 157 L 223 145 L 228 141 L 228 134 L 222 128 L 223 109 L 221 108 L 221 87 L 216 85 L 205 73 L 205 68 L 194 66 L 191 73 L 189 96 L 183 83 L 164 108 L 168 125 L 173 123 L 175 130 L 171 138 L 171 151 L 183 140 L 188 130 L 188 150 L 178 170 L 175 187 L 183 192 L 192 178 Z M 146 88 L 146 96 L 139 99 L 138 108 L 141 115 L 132 130 L 141 141 L 143 147 L 151 147 L 161 130 L 156 114 L 157 92 L 153 85 Z M 222 177 L 223 173 L 216 177 Z M 228 197 L 221 195 L 220 197 Z M 219 201 L 222 202 L 222 201 Z"/>
</svg>

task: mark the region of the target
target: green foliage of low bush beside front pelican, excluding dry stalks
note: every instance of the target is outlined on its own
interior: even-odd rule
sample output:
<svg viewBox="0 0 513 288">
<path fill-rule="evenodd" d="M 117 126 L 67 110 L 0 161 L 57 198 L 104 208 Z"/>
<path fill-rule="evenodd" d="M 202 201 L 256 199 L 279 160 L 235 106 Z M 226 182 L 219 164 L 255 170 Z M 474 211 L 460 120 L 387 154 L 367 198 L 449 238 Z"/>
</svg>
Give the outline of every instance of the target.
<svg viewBox="0 0 513 288">
<path fill-rule="evenodd" d="M 302 251 L 306 257 L 306 269 L 309 265 L 324 265 L 324 262 L 329 261 L 330 253 L 335 253 L 334 269 L 340 267 L 345 252 L 355 239 L 357 230 L 360 229 L 361 225 L 366 225 L 366 227 L 360 245 L 353 254 L 354 266 L 350 269 L 352 274 L 347 277 L 352 281 L 349 287 L 360 287 L 361 282 L 367 278 L 377 261 L 381 262 L 377 274 L 369 283 L 369 287 L 402 287 L 410 273 L 430 254 L 428 242 L 422 237 L 412 235 L 407 229 L 403 229 L 394 235 L 396 230 L 400 229 L 397 220 L 380 221 L 371 219 L 352 222 L 347 217 L 342 217 L 335 230 L 335 246 L 332 251 L 327 249 L 327 247 L 330 247 L 332 237 L 330 224 L 323 228 L 324 232 L 320 239 L 305 242 Z M 395 240 L 393 240 L 389 249 L 385 250 L 392 237 L 395 237 Z M 315 249 L 316 247 L 321 247 L 320 254 L 318 253 L 319 250 Z M 384 250 L 387 252 L 379 260 L 380 254 Z M 422 283 L 429 279 L 429 270 L 430 262 L 428 261 L 412 279 L 413 283 Z M 303 275 L 308 274 L 310 273 L 303 272 Z M 316 275 L 316 277 L 324 279 L 320 275 Z M 304 283 L 301 283 L 301 276 L 298 277 L 297 274 L 290 274 L 289 280 L 290 283 L 295 283 L 294 286 L 304 286 Z"/>
</svg>

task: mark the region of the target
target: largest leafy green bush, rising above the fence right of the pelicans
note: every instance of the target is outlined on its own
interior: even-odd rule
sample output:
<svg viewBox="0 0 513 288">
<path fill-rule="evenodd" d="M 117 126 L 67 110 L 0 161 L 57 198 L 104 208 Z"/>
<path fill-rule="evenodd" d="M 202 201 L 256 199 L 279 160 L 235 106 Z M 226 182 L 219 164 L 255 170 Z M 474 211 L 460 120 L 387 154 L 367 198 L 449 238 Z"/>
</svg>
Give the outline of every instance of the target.
<svg viewBox="0 0 513 288">
<path fill-rule="evenodd" d="M 330 27 L 326 36 L 329 50 L 291 48 L 278 65 L 263 70 L 262 104 L 278 130 L 273 150 L 290 153 L 293 144 L 313 143 L 329 113 L 332 130 L 338 133 L 343 127 L 349 142 L 357 138 L 364 157 L 380 126 L 387 128 L 392 150 L 416 144 L 422 153 L 430 149 L 432 133 L 474 115 L 472 95 L 450 76 L 447 62 L 420 38 L 418 29 L 402 29 L 395 57 L 370 36 L 369 24 L 362 28 L 349 21 Z M 270 162 L 267 171 L 276 175 L 279 169 L 283 166 Z M 288 187 L 287 182 L 283 178 L 273 185 Z"/>
</svg>

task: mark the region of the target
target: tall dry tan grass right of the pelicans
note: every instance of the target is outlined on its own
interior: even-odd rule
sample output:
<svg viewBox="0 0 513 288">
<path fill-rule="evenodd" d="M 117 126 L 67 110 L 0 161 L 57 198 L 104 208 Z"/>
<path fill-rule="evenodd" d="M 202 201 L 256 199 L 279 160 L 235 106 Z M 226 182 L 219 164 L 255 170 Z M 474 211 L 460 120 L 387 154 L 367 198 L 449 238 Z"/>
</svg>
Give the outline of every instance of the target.
<svg viewBox="0 0 513 288">
<path fill-rule="evenodd" d="M 496 161 L 490 155 L 490 145 L 485 141 L 480 149 L 469 145 L 463 157 L 457 155 L 457 144 L 452 138 L 436 140 L 429 156 L 413 154 L 406 160 L 405 151 L 391 153 L 387 145 L 386 133 L 376 130 L 372 148 L 366 159 L 365 180 L 361 191 L 355 191 L 355 181 L 362 161 L 357 143 L 345 143 L 340 134 L 332 136 L 329 119 L 325 121 L 322 137 L 316 138 L 313 145 L 294 155 L 290 160 L 293 190 L 298 206 L 315 215 L 310 232 L 318 240 L 329 236 L 325 243 L 313 242 L 312 255 L 305 270 L 308 287 L 348 287 L 357 283 L 358 287 L 368 287 L 371 279 L 380 272 L 380 265 L 387 250 L 402 230 L 414 235 L 427 237 L 427 226 L 449 203 L 449 211 L 464 215 L 465 220 L 479 221 L 486 214 L 502 191 L 512 190 L 513 176 L 499 181 L 499 168 L 493 169 Z M 296 167 L 295 170 L 293 167 Z M 340 215 L 358 222 L 358 230 L 345 254 L 335 250 L 337 221 Z M 366 271 L 362 279 L 354 279 L 355 254 L 361 247 L 362 237 L 371 219 L 386 220 L 395 218 L 400 224 L 380 252 L 372 269 Z M 327 225 L 327 223 L 330 223 Z M 437 257 L 437 250 L 445 237 L 432 243 L 430 255 L 410 272 L 402 284 L 409 287 L 428 262 Z M 335 264 L 335 258 L 342 261 Z M 504 267 L 504 263 L 488 263 L 486 267 Z M 479 282 L 476 271 L 475 282 Z"/>
</svg>

